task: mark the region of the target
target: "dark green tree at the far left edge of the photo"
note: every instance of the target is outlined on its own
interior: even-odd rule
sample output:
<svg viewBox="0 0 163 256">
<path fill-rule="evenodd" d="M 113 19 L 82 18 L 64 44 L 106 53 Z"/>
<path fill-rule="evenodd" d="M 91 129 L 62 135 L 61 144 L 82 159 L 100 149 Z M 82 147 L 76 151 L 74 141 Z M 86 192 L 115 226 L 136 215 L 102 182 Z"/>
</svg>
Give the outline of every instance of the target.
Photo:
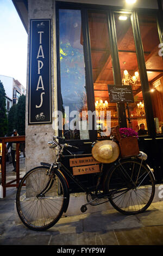
<svg viewBox="0 0 163 256">
<path fill-rule="evenodd" d="M 8 120 L 6 114 L 5 90 L 0 80 L 0 137 L 7 134 Z"/>
</svg>

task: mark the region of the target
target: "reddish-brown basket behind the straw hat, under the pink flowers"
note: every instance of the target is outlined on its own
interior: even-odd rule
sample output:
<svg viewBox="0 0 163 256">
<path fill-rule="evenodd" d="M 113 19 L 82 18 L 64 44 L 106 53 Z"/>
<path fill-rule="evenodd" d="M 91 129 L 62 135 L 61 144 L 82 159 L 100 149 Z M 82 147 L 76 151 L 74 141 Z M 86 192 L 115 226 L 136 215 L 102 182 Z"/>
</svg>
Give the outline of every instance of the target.
<svg viewBox="0 0 163 256">
<path fill-rule="evenodd" d="M 132 157 L 139 154 L 139 145 L 136 137 L 121 138 L 118 126 L 111 127 L 111 136 L 114 136 L 120 146 L 121 157 Z"/>
</svg>

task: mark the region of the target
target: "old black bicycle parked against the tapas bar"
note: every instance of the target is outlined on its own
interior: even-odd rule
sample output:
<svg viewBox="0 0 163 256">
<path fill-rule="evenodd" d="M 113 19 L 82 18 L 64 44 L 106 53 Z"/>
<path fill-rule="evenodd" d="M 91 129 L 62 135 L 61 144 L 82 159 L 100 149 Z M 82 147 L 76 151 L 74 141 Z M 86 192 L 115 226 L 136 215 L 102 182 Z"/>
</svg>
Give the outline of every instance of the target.
<svg viewBox="0 0 163 256">
<path fill-rule="evenodd" d="M 41 163 L 41 166 L 28 171 L 17 189 L 18 216 L 29 229 L 49 229 L 67 211 L 70 192 L 65 175 L 86 193 L 87 203 L 82 205 L 82 212 L 87 210 L 87 205 L 96 206 L 110 201 L 124 215 L 135 215 L 144 212 L 151 205 L 155 193 L 155 178 L 143 158 L 138 158 L 141 154 L 123 159 L 118 157 L 109 167 L 101 163 L 95 188 L 89 189 L 60 161 L 65 149 L 77 147 L 60 144 L 57 139 L 63 138 L 54 136 L 48 142 L 50 148 L 58 150 L 54 163 Z M 105 201 L 101 202 L 101 199 Z"/>
</svg>

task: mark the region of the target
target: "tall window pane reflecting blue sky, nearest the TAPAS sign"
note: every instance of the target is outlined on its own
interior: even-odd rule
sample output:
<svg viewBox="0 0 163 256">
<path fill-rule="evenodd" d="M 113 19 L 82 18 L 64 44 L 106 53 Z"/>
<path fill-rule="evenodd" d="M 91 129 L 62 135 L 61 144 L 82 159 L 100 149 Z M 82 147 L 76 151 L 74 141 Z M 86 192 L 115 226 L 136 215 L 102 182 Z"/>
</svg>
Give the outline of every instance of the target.
<svg viewBox="0 0 163 256">
<path fill-rule="evenodd" d="M 62 134 L 66 139 L 89 139 L 80 10 L 59 10 L 59 43 Z"/>
</svg>

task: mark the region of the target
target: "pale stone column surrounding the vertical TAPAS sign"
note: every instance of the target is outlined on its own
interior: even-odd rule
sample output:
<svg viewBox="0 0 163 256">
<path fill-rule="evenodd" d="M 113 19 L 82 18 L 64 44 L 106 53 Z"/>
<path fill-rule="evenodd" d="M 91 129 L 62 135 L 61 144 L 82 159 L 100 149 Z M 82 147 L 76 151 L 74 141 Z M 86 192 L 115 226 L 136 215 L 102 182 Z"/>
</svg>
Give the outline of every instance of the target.
<svg viewBox="0 0 163 256">
<path fill-rule="evenodd" d="M 51 19 L 51 74 L 52 74 L 52 124 L 28 125 L 28 82 L 30 19 Z M 55 1 L 28 0 L 28 63 L 26 94 L 26 172 L 40 162 L 52 163 L 55 151 L 48 147 L 48 140 L 57 135 L 54 127 L 54 110 L 57 110 L 57 54 L 55 33 Z"/>
</svg>

